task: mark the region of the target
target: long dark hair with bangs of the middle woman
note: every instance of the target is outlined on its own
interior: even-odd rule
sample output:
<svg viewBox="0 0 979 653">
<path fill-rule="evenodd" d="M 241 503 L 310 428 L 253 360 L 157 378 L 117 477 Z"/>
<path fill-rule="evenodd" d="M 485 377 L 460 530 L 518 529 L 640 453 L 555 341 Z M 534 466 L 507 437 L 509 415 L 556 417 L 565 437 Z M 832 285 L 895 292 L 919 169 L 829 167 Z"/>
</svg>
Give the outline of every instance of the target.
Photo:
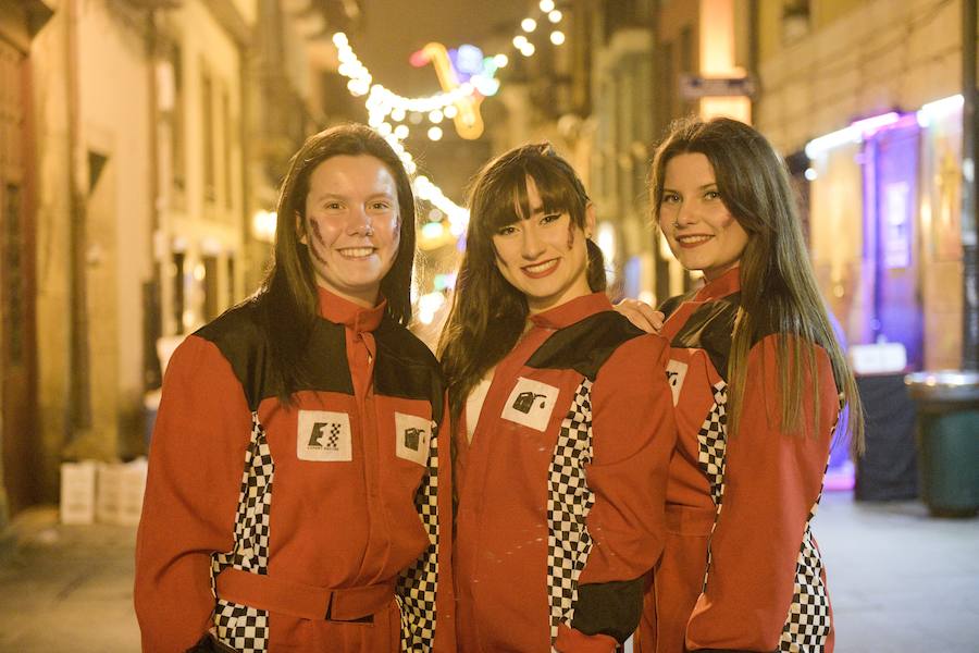
<svg viewBox="0 0 979 653">
<path fill-rule="evenodd" d="M 456 280 L 453 307 L 438 341 L 448 381 L 449 407 L 458 417 L 466 397 L 486 371 L 499 362 L 523 333 L 526 297 L 496 267 L 493 235 L 518 218 L 531 215 L 526 178 L 544 210 L 567 212 L 572 229 L 585 229 L 588 196 L 574 169 L 548 143 L 511 149 L 486 163 L 469 192 L 466 254 Z M 602 250 L 587 241 L 587 281 L 592 292 L 606 285 Z"/>
</svg>

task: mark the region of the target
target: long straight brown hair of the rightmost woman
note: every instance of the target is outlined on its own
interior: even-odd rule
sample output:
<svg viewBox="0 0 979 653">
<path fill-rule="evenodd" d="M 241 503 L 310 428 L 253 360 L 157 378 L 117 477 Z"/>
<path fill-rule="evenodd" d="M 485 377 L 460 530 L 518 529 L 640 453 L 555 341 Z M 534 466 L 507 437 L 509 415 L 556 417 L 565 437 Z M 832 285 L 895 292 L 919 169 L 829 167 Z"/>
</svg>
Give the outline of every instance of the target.
<svg viewBox="0 0 979 653">
<path fill-rule="evenodd" d="M 728 429 L 734 434 L 744 398 L 748 352 L 761 336 L 778 334 L 782 424 L 798 431 L 794 408 L 815 379 L 811 344 L 829 355 L 837 387 L 850 405 L 847 428 L 855 453 L 864 446 L 864 419 L 856 381 L 830 324 L 803 238 L 785 165 L 751 126 L 728 118 L 685 119 L 673 123 L 656 150 L 652 170 L 653 214 L 659 224 L 667 163 L 681 153 L 701 153 L 714 168 L 721 201 L 748 234 L 741 255 L 741 307 L 734 322 L 728 379 Z M 817 419 L 819 396 L 815 396 Z M 816 424 L 816 432 L 822 426 Z"/>
</svg>

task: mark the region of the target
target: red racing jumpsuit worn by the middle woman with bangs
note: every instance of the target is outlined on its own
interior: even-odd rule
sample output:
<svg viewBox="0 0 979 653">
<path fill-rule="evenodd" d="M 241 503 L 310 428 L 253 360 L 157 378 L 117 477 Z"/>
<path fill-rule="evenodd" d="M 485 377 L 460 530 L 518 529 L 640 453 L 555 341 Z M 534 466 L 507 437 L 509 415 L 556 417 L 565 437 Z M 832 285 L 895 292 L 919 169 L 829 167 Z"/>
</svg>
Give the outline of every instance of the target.
<svg viewBox="0 0 979 653">
<path fill-rule="evenodd" d="M 531 320 L 471 443 L 454 429 L 459 650 L 610 652 L 639 623 L 665 535 L 666 342 L 602 293 Z"/>
</svg>

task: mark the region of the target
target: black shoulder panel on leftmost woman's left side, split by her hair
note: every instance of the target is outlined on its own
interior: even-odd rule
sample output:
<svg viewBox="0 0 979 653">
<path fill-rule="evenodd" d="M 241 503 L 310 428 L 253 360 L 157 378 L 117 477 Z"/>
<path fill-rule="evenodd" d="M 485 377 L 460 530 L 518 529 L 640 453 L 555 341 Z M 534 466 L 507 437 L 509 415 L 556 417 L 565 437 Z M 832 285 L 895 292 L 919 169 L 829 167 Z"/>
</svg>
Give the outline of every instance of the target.
<svg viewBox="0 0 979 653">
<path fill-rule="evenodd" d="M 255 304 L 237 306 L 195 333 L 214 343 L 231 364 L 252 410 L 262 399 L 276 396 L 282 385 L 272 366 L 258 310 Z M 308 360 L 322 362 L 309 366 L 299 390 L 354 394 L 342 325 L 317 321 L 310 334 Z"/>
</svg>

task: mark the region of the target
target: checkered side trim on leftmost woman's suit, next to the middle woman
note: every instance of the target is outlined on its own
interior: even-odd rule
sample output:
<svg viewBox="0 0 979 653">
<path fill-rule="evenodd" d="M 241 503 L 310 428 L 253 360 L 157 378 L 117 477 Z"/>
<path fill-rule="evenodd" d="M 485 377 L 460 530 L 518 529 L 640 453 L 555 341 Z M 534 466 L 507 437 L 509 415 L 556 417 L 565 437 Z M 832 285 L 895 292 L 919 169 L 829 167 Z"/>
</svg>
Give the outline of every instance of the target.
<svg viewBox="0 0 979 653">
<path fill-rule="evenodd" d="M 427 652 L 435 642 L 438 587 L 438 428 L 432 422 L 429 469 L 414 495 L 414 507 L 429 533 L 429 547 L 401 571 L 396 595 L 401 611 L 401 650 Z"/>
</svg>

